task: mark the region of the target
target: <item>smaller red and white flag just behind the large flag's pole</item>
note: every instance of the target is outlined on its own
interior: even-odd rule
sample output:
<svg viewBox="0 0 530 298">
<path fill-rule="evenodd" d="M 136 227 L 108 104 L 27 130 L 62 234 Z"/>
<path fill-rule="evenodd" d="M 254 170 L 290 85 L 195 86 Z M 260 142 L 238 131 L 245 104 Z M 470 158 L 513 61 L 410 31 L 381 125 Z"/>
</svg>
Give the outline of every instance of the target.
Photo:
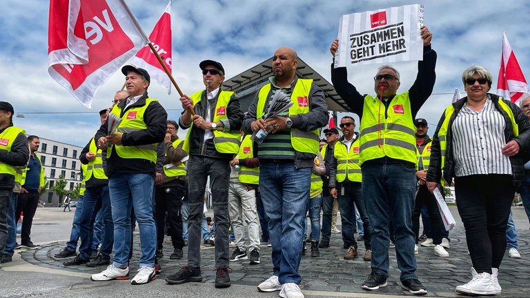
<svg viewBox="0 0 530 298">
<path fill-rule="evenodd" d="M 149 35 L 149 39 L 160 55 L 160 58 L 171 72 L 171 1 L 169 1 L 166 10 L 164 10 L 164 13 L 155 25 L 155 28 L 153 28 L 153 32 Z M 160 65 L 157 57 L 155 57 L 155 54 L 151 52 L 151 49 L 148 46 L 139 50 L 135 57 L 130 59 L 130 63 L 147 70 L 151 79 L 157 81 L 162 87 L 166 88 L 168 94 L 170 94 L 171 81 L 164 71 L 164 68 Z"/>
</svg>

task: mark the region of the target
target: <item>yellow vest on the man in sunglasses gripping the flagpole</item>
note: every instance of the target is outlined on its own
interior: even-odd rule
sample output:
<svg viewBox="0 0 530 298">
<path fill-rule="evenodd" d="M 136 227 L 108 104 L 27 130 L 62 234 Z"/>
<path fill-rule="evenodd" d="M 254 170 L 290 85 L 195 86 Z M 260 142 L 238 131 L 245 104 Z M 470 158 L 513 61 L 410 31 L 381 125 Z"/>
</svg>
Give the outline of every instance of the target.
<svg viewBox="0 0 530 298">
<path fill-rule="evenodd" d="M 190 96 L 193 101 L 193 106 L 197 106 L 202 99 L 203 91 L 199 91 Z M 215 110 L 213 111 L 212 122 L 219 122 L 224 119 L 228 119 L 228 103 L 234 92 L 232 91 L 219 91 L 219 97 L 217 97 L 217 103 L 215 103 Z M 184 151 L 190 152 L 190 138 L 191 130 L 193 128 L 193 122 L 191 123 L 190 128 L 188 129 L 188 134 L 186 135 L 186 142 L 184 142 Z M 215 144 L 215 150 L 219 153 L 233 153 L 236 154 L 239 150 L 239 138 L 241 135 L 239 132 L 224 132 L 221 130 L 213 130 L 213 143 Z"/>
</svg>

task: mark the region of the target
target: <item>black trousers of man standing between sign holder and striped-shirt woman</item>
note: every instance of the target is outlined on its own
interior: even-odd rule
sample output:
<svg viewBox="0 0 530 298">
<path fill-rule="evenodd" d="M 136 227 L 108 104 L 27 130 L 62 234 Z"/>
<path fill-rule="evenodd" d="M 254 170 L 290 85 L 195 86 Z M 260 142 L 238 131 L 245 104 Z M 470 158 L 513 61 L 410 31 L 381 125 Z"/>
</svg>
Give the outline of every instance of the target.
<svg viewBox="0 0 530 298">
<path fill-rule="evenodd" d="M 441 244 L 444 223 L 440 216 L 440 210 L 438 209 L 436 198 L 429 191 L 427 186 L 424 185 L 418 188 L 418 193 L 416 193 L 416 200 L 414 202 L 414 212 L 412 214 L 412 230 L 416 236 L 416 244 L 418 244 L 418 237 L 420 237 L 420 215 L 422 214 L 423 203 L 427 206 L 427 212 L 429 212 L 429 219 L 431 220 L 433 244 Z"/>
</svg>

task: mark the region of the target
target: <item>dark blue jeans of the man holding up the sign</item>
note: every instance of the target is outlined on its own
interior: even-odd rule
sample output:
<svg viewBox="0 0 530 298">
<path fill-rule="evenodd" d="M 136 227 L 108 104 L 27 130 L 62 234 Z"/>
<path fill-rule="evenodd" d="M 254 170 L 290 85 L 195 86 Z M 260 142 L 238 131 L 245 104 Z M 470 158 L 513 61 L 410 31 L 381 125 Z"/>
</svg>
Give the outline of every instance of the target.
<svg viewBox="0 0 530 298">
<path fill-rule="evenodd" d="M 414 168 L 400 163 L 364 163 L 362 193 L 372 226 L 372 271 L 389 276 L 389 219 L 395 235 L 400 280 L 418 278 L 415 274 L 412 212 L 417 188 Z M 366 234 L 366 231 L 365 231 Z"/>
</svg>

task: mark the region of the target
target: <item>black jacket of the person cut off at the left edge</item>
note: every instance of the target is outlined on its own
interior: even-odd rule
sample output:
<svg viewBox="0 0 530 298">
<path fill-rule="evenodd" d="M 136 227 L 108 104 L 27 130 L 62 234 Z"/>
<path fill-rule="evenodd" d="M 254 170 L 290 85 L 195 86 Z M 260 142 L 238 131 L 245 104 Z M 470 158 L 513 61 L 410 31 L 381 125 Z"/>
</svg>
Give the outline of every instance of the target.
<svg viewBox="0 0 530 298">
<path fill-rule="evenodd" d="M 10 125 L 12 126 L 12 124 Z M 9 127 L 9 126 L 8 126 Z M 6 128 L 0 130 L 2 133 Z M 0 150 L 0 162 L 7 163 L 10 166 L 26 166 L 30 159 L 30 147 L 28 139 L 23 133 L 19 133 L 11 145 L 11 151 Z M 9 174 L 0 174 L 0 189 L 13 190 L 14 176 Z"/>
</svg>

